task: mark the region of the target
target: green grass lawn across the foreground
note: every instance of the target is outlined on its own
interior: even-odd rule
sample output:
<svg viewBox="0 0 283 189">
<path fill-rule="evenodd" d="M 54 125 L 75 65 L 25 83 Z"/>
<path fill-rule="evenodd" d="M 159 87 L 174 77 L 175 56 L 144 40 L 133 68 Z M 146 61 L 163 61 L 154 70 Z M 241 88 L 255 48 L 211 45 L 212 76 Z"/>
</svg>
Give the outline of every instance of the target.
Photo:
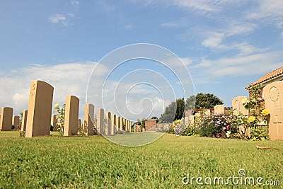
<svg viewBox="0 0 283 189">
<path fill-rule="evenodd" d="M 258 144 L 283 149 L 283 141 L 164 134 L 146 146 L 123 147 L 98 136 L 18 135 L 0 132 L 0 188 L 195 188 L 183 185 L 187 173 L 227 178 L 238 176 L 240 168 L 246 176 L 281 181 L 276 188 L 283 185 L 283 152 L 256 149 Z"/>
</svg>

